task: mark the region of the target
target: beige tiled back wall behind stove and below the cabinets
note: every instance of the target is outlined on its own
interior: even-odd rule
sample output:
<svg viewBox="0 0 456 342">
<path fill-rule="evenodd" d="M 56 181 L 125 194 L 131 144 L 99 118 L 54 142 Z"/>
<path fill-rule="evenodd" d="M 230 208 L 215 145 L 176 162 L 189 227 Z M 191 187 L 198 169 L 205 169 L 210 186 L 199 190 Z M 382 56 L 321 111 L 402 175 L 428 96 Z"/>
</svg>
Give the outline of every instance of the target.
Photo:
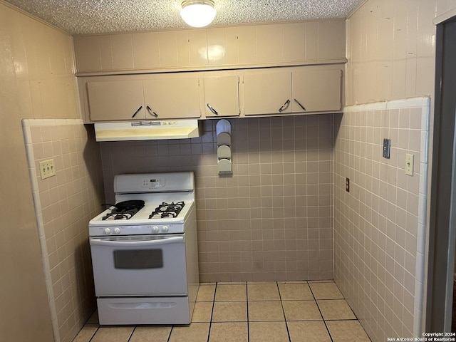
<svg viewBox="0 0 456 342">
<path fill-rule="evenodd" d="M 116 174 L 192 170 L 200 281 L 332 279 L 333 115 L 229 121 L 229 177 L 217 120 L 199 138 L 101 142 L 106 201 Z"/>
</svg>

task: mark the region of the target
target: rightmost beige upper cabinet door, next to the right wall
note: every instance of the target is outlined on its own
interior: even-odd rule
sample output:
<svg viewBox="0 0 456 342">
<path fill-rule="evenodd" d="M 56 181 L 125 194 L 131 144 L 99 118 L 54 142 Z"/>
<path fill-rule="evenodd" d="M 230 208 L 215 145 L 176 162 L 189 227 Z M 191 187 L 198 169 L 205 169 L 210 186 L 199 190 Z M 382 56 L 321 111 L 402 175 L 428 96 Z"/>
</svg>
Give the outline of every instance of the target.
<svg viewBox="0 0 456 342">
<path fill-rule="evenodd" d="M 340 69 L 296 71 L 292 78 L 292 112 L 341 110 L 342 71 Z"/>
</svg>

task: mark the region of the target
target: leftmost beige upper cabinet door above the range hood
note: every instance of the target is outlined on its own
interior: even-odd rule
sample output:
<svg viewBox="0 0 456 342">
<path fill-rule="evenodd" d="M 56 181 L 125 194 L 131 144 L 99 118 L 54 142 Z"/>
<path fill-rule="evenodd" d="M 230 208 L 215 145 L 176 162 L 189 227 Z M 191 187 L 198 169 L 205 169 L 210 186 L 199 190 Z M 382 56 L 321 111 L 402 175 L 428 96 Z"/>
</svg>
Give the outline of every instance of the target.
<svg viewBox="0 0 456 342">
<path fill-rule="evenodd" d="M 145 118 L 141 80 L 87 83 L 90 120 L 135 120 Z"/>
</svg>

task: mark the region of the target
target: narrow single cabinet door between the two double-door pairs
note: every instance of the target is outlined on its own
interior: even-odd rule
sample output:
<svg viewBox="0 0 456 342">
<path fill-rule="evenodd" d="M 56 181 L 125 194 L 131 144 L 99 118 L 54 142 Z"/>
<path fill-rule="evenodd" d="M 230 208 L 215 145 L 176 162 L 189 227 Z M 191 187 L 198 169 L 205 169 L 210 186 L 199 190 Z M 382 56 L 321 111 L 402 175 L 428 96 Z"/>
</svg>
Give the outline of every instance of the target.
<svg viewBox="0 0 456 342">
<path fill-rule="evenodd" d="M 204 77 L 204 111 L 211 116 L 239 115 L 239 77 Z"/>
</svg>

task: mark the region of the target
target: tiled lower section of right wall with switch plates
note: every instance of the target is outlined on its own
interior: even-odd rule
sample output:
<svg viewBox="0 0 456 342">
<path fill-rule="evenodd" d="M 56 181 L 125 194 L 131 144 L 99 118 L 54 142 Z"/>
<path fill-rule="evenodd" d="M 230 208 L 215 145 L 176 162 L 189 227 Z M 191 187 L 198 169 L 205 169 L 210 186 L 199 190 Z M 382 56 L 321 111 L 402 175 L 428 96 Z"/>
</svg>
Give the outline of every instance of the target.
<svg viewBox="0 0 456 342">
<path fill-rule="evenodd" d="M 336 130 L 335 280 L 373 341 L 422 329 L 429 115 L 430 98 L 354 105 Z"/>
</svg>

